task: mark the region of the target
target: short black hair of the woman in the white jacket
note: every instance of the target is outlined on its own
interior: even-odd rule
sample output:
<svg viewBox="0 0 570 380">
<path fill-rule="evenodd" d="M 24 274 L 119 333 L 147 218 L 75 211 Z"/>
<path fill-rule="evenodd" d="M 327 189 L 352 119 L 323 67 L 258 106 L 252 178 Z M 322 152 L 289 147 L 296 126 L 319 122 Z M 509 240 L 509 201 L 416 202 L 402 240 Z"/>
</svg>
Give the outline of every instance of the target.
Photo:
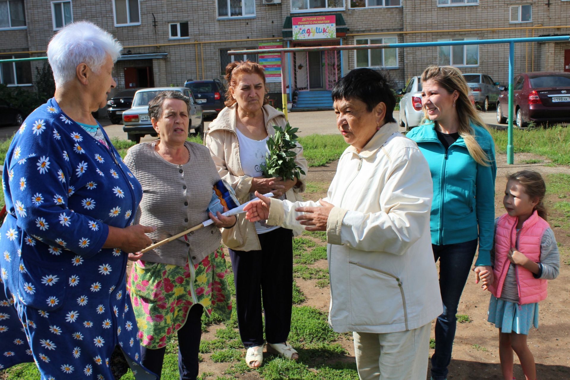
<svg viewBox="0 0 570 380">
<path fill-rule="evenodd" d="M 366 104 L 368 112 L 383 102 L 386 105 L 384 119 L 386 122 L 396 122 L 392 116 L 396 107 L 395 88 L 396 83 L 390 79 L 388 71 L 357 68 L 335 83 L 332 100 L 358 99 Z"/>
</svg>

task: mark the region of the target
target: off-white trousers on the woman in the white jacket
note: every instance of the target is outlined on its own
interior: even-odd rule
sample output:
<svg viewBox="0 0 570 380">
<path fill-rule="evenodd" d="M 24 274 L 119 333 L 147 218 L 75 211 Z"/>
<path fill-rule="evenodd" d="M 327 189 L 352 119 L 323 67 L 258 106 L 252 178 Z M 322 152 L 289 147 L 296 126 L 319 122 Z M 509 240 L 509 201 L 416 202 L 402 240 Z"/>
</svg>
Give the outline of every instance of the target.
<svg viewBox="0 0 570 380">
<path fill-rule="evenodd" d="M 425 380 L 431 324 L 397 333 L 353 332 L 361 380 Z"/>
</svg>

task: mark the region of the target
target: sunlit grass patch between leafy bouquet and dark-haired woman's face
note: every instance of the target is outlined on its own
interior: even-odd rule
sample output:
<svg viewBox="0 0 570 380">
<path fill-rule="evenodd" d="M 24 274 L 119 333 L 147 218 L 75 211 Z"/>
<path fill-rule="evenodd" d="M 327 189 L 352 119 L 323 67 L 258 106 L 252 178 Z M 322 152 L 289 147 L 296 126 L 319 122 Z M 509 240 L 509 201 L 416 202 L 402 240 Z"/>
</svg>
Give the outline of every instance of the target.
<svg viewBox="0 0 570 380">
<path fill-rule="evenodd" d="M 338 160 L 348 146 L 340 134 L 311 134 L 299 137 L 298 141 L 309 166 L 323 166 Z"/>
</svg>

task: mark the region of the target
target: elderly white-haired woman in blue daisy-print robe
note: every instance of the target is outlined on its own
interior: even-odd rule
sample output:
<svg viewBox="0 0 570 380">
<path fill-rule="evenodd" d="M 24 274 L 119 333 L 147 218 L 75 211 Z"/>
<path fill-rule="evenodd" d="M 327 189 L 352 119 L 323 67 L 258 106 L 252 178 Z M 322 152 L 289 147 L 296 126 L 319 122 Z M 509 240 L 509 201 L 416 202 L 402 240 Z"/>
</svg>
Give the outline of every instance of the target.
<svg viewBox="0 0 570 380">
<path fill-rule="evenodd" d="M 47 49 L 55 96 L 23 122 L 6 155 L 0 234 L 0 368 L 35 361 L 42 379 L 112 379 L 109 360 L 140 364 L 128 256 L 152 244 L 132 226 L 142 197 L 91 112 L 103 107 L 121 45 L 89 22 Z M 3 299 L 3 293 L 6 299 Z M 115 352 L 115 355 L 113 355 Z"/>
</svg>

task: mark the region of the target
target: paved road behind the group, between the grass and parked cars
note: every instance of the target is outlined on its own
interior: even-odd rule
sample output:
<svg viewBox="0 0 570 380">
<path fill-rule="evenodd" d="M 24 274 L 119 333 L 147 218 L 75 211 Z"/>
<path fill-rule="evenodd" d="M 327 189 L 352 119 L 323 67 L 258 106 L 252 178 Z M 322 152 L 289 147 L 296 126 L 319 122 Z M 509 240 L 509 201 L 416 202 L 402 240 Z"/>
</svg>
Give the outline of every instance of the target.
<svg viewBox="0 0 570 380">
<path fill-rule="evenodd" d="M 398 120 L 398 112 L 394 111 L 394 119 Z M 483 121 L 489 125 L 496 125 L 495 111 L 482 112 Z M 292 126 L 300 129 L 299 136 L 308 136 L 309 134 L 335 134 L 339 133 L 336 129 L 336 116 L 334 111 L 314 111 L 314 112 L 291 112 L 289 113 L 289 120 Z M 99 119 L 103 128 L 109 137 L 127 138 L 127 133 L 123 132 L 123 125 L 111 124 L 109 119 Z M 209 125 L 211 120 L 205 121 L 205 126 Z M 499 127 L 506 128 L 506 124 L 501 124 Z M 0 140 L 11 138 L 19 126 L 6 126 L 0 128 Z M 402 128 L 403 130 L 403 128 Z M 152 141 L 155 137 L 145 136 L 141 141 Z"/>
</svg>

